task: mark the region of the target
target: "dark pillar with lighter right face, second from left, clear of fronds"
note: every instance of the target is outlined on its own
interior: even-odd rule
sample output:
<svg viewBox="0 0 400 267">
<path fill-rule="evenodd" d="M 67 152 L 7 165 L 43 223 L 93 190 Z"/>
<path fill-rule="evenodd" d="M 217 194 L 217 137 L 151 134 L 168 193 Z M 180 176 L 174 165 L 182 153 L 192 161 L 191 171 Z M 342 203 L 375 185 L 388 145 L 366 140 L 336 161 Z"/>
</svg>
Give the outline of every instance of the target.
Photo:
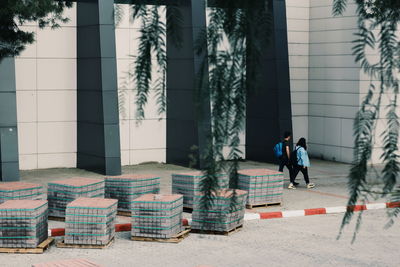
<svg viewBox="0 0 400 267">
<path fill-rule="evenodd" d="M 77 3 L 77 167 L 121 173 L 114 1 Z"/>
</svg>

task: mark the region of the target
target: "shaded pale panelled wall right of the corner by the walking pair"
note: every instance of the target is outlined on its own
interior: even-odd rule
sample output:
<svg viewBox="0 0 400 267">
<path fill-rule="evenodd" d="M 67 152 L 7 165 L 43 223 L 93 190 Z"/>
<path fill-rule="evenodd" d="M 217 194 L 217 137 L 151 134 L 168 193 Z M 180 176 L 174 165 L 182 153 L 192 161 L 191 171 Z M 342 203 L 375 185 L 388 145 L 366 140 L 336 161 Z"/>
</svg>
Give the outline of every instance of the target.
<svg viewBox="0 0 400 267">
<path fill-rule="evenodd" d="M 356 6 L 332 15 L 332 1 L 310 2 L 309 136 L 312 156 L 352 161 L 353 119 L 360 104 L 360 67 L 352 41 Z"/>
</svg>

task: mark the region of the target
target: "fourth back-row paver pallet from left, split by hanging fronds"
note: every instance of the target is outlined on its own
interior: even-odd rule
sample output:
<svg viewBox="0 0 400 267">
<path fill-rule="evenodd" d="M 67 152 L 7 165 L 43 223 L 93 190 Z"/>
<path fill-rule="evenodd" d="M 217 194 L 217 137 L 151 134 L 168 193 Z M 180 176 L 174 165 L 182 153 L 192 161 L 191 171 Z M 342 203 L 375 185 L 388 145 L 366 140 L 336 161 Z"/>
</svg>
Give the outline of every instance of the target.
<svg viewBox="0 0 400 267">
<path fill-rule="evenodd" d="M 219 189 L 229 187 L 226 174 L 218 174 Z M 172 193 L 183 195 L 183 207 L 193 209 L 194 197 L 201 193 L 201 182 L 205 179 L 202 172 L 187 172 L 172 175 Z"/>
</svg>

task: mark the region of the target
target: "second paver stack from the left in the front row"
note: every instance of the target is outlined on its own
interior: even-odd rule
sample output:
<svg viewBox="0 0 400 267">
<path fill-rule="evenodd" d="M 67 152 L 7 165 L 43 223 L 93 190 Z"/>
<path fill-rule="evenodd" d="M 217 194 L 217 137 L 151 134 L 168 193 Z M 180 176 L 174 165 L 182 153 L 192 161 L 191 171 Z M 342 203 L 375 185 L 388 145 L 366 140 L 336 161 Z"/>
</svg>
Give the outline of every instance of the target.
<svg viewBox="0 0 400 267">
<path fill-rule="evenodd" d="M 67 205 L 65 244 L 107 245 L 115 235 L 117 200 L 79 198 Z"/>
</svg>

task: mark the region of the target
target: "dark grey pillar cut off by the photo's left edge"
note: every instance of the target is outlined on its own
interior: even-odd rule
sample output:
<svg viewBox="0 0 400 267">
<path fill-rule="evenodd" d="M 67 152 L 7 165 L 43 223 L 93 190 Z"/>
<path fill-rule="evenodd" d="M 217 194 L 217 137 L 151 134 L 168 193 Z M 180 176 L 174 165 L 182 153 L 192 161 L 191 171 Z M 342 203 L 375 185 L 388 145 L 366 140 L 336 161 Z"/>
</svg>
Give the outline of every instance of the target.
<svg viewBox="0 0 400 267">
<path fill-rule="evenodd" d="M 18 181 L 15 60 L 0 60 L 0 181 Z"/>
</svg>

